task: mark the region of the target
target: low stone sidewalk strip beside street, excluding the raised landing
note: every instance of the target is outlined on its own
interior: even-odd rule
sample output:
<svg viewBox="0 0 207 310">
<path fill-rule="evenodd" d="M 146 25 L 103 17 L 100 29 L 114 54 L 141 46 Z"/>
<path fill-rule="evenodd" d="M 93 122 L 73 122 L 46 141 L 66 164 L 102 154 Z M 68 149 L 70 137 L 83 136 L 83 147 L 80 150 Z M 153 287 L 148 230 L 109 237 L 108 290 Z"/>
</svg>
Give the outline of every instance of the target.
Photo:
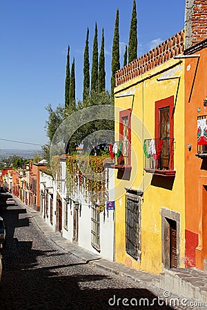
<svg viewBox="0 0 207 310">
<path fill-rule="evenodd" d="M 102 256 L 98 256 L 89 250 L 86 250 L 74 243 L 70 242 L 70 240 L 63 238 L 59 232 L 52 231 L 52 229 L 46 224 L 46 222 L 41 218 L 41 214 L 39 211 L 35 211 L 34 209 L 28 207 L 24 203 L 19 200 L 17 197 L 13 197 L 14 200 L 17 201 L 21 207 L 26 209 L 34 219 L 34 223 L 39 227 L 42 233 L 52 242 L 55 243 L 58 247 L 60 247 L 63 251 L 75 256 L 91 267 L 95 267 L 102 271 L 106 271 L 108 273 L 112 273 L 116 276 L 121 276 L 126 280 L 130 280 L 135 282 L 137 285 L 140 285 L 141 289 L 148 289 L 155 296 L 164 296 L 165 289 L 160 287 L 159 277 L 160 275 L 156 275 L 154 273 L 148 273 L 147 271 L 139 271 L 137 269 L 133 269 L 131 267 L 127 267 L 124 264 L 119 262 L 113 262 L 112 260 L 108 260 L 107 258 L 103 258 Z M 181 292 L 183 293 L 183 292 Z M 186 296 L 177 295 L 176 292 L 171 292 L 171 298 L 186 298 Z M 189 296 L 192 298 L 192 296 Z M 191 301 L 196 299 L 189 299 Z M 207 307 L 203 307 L 202 309 L 207 309 Z"/>
</svg>

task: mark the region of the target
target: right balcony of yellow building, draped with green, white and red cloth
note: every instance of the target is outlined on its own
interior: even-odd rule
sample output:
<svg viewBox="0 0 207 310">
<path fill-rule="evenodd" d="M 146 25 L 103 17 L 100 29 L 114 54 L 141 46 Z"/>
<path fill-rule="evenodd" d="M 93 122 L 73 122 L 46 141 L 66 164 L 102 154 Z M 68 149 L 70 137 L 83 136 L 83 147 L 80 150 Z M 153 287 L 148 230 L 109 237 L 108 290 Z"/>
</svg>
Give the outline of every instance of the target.
<svg viewBox="0 0 207 310">
<path fill-rule="evenodd" d="M 146 172 L 161 176 L 175 176 L 174 138 L 146 139 L 144 155 Z"/>
</svg>

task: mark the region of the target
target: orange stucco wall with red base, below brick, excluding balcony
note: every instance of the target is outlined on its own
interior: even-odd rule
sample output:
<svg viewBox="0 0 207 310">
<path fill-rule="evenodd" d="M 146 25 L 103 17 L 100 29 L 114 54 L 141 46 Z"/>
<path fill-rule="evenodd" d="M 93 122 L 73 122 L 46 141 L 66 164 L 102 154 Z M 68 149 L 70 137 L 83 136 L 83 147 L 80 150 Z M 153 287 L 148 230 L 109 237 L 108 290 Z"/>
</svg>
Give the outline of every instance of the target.
<svg viewBox="0 0 207 310">
<path fill-rule="evenodd" d="M 186 196 L 186 266 L 204 269 L 207 239 L 206 223 L 207 158 L 197 156 L 197 116 L 207 114 L 207 49 L 185 60 L 185 196 Z M 188 149 L 187 144 L 192 145 Z M 206 256 L 207 257 L 207 256 Z"/>
</svg>

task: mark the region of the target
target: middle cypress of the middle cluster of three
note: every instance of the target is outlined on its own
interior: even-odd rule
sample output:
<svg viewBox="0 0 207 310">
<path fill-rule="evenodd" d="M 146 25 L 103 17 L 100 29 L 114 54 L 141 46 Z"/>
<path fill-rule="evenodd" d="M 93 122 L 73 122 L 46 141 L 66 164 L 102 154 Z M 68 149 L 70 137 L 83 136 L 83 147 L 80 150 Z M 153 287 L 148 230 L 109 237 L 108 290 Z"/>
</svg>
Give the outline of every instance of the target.
<svg viewBox="0 0 207 310">
<path fill-rule="evenodd" d="M 98 54 L 98 30 L 97 23 L 95 23 L 95 36 L 93 40 L 92 48 L 92 69 L 91 69 L 91 92 L 97 92 L 98 90 L 98 77 L 99 77 L 99 54 Z"/>
</svg>

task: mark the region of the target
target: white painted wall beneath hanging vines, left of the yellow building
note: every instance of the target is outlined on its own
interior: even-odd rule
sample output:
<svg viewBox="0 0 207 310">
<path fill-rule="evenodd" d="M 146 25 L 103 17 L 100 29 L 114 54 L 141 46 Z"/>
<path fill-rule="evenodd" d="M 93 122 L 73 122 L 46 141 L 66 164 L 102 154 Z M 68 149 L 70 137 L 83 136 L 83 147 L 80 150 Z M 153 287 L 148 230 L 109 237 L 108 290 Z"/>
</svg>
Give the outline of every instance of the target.
<svg viewBox="0 0 207 310">
<path fill-rule="evenodd" d="M 91 245 L 91 214 L 92 210 L 90 202 L 86 202 L 83 194 L 78 192 L 70 196 L 70 203 L 68 204 L 68 225 L 64 227 L 65 223 L 65 208 L 66 208 L 66 162 L 61 160 L 61 186 L 57 188 L 57 182 L 54 182 L 54 210 L 56 209 L 56 195 L 57 192 L 62 200 L 62 236 L 72 242 L 73 238 L 73 213 L 74 203 L 79 201 L 79 236 L 78 245 L 84 249 L 88 249 L 95 254 L 99 254 L 110 260 L 114 259 L 114 211 L 105 210 L 100 213 L 100 244 L 101 251 L 97 251 Z M 115 200 L 115 170 L 108 170 L 108 200 Z M 54 217 L 54 219 L 56 216 Z M 50 223 L 48 223 L 49 225 Z"/>
</svg>

